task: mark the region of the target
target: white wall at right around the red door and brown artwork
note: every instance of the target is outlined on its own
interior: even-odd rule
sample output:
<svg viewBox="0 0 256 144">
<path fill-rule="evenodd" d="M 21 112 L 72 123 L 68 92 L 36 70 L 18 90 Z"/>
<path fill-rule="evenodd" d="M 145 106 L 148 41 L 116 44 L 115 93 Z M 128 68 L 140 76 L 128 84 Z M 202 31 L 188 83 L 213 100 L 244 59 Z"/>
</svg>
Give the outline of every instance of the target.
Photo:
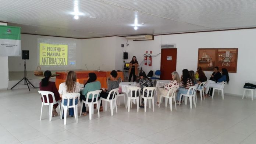
<svg viewBox="0 0 256 144">
<path fill-rule="evenodd" d="M 153 50 L 153 55 L 160 52 L 161 44 L 177 44 L 177 72 L 182 69 L 196 71 L 198 48 L 236 48 L 238 47 L 237 73 L 229 73 L 230 84 L 225 86 L 225 93 L 242 95 L 246 80 L 256 80 L 256 29 L 228 30 L 218 32 L 187 33 L 155 36 L 151 41 L 129 42 L 129 58 L 136 55 L 143 59 L 146 50 Z M 153 58 L 152 68 L 143 66 L 146 73 L 150 69 L 160 69 L 160 56 Z M 144 68 L 145 67 L 145 68 Z M 211 72 L 206 72 L 209 78 Z"/>
</svg>

